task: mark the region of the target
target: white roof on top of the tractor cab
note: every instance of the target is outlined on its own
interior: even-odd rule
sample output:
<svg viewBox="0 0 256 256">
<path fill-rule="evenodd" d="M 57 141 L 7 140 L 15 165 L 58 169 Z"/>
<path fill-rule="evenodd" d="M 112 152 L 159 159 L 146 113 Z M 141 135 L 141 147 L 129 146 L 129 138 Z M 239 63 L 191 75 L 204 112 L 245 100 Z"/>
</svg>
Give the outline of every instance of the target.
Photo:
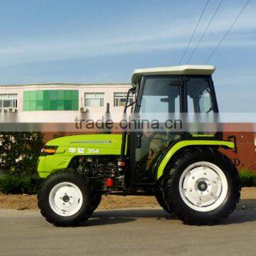
<svg viewBox="0 0 256 256">
<path fill-rule="evenodd" d="M 142 68 L 134 70 L 132 74 L 132 85 L 134 85 L 142 75 L 213 75 L 215 69 L 213 65 L 179 65 L 164 68 Z"/>
</svg>

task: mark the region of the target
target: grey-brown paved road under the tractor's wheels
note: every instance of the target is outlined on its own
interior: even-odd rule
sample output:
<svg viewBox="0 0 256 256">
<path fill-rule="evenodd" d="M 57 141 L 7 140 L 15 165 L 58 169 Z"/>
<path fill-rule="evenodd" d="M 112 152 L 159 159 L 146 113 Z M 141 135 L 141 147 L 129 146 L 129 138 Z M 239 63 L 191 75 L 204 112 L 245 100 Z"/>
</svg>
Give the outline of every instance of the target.
<svg viewBox="0 0 256 256">
<path fill-rule="evenodd" d="M 55 228 L 36 210 L 0 210 L 0 255 L 256 255 L 256 210 L 221 225 L 188 226 L 160 209 L 97 211 Z"/>
</svg>

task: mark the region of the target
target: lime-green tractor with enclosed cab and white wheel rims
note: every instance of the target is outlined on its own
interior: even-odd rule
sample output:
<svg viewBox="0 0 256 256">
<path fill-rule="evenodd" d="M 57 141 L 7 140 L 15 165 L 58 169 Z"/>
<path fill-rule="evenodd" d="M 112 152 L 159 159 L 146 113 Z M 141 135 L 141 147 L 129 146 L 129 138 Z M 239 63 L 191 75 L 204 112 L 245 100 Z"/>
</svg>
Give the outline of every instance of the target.
<svg viewBox="0 0 256 256">
<path fill-rule="evenodd" d="M 218 113 L 210 65 L 134 70 L 124 107 L 134 113 Z M 134 95 L 134 102 L 130 102 Z M 200 132 L 123 132 L 53 139 L 38 161 L 41 214 L 57 226 L 90 218 L 102 195 L 155 196 L 190 225 L 213 225 L 240 199 L 240 178 L 220 148 L 235 137 Z"/>
</svg>

